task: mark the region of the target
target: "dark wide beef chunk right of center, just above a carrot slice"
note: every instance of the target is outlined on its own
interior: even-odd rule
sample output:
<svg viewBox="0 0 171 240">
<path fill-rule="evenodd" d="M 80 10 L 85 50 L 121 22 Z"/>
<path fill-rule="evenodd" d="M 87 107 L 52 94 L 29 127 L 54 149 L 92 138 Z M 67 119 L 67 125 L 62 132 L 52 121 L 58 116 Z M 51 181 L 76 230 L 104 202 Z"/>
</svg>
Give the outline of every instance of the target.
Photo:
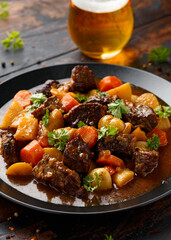
<svg viewBox="0 0 171 240">
<path fill-rule="evenodd" d="M 98 141 L 99 152 L 110 150 L 112 154 L 125 158 L 131 157 L 135 148 L 135 137 L 130 134 L 116 134 L 103 137 Z"/>
</svg>

